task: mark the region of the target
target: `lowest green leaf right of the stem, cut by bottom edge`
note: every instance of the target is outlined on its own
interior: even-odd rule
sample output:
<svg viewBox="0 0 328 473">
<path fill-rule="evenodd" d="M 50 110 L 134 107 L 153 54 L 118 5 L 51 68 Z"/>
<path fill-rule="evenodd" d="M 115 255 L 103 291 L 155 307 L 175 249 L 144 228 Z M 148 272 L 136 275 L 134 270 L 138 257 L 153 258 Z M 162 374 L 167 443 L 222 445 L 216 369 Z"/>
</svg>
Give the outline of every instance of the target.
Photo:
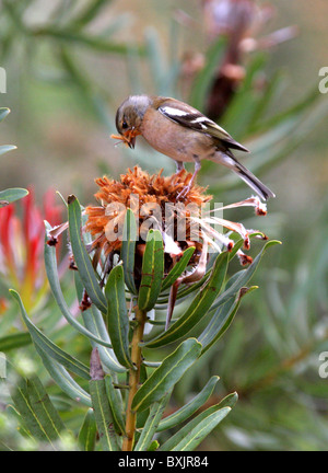
<svg viewBox="0 0 328 473">
<path fill-rule="evenodd" d="M 192 451 L 230 413 L 231 407 L 220 404 L 209 407 L 169 437 L 159 450 L 161 451 Z"/>
</svg>

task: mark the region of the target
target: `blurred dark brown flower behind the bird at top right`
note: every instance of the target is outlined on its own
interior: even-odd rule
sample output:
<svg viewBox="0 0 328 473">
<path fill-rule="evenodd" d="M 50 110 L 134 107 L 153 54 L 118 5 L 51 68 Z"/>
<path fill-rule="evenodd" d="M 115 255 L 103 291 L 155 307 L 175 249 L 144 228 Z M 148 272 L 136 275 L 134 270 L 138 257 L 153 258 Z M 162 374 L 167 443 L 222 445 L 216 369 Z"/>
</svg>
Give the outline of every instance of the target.
<svg viewBox="0 0 328 473">
<path fill-rule="evenodd" d="M 207 116 L 216 120 L 224 114 L 244 81 L 245 53 L 274 47 L 293 38 L 297 28 L 288 26 L 260 36 L 260 32 L 274 16 L 276 9 L 270 3 L 259 4 L 255 0 L 202 0 L 202 10 L 209 43 L 220 36 L 226 37 L 224 57 L 218 64 L 204 109 Z M 195 59 L 190 54 L 186 57 L 184 82 L 185 79 L 191 82 L 190 78 L 199 71 L 200 64 L 199 53 L 195 54 Z"/>
</svg>

